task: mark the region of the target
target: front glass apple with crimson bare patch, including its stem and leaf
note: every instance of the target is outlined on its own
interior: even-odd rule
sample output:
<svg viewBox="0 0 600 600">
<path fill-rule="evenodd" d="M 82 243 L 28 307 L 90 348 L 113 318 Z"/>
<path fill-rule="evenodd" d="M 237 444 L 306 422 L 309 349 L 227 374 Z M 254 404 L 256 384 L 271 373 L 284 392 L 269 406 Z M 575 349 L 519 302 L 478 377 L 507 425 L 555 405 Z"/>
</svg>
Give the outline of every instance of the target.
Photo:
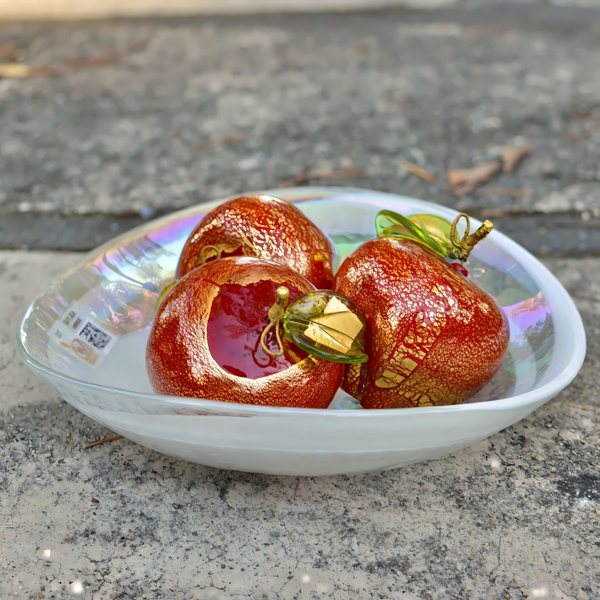
<svg viewBox="0 0 600 600">
<path fill-rule="evenodd" d="M 159 394 L 324 409 L 342 363 L 367 359 L 364 331 L 352 302 L 288 266 L 226 257 L 166 294 L 146 366 Z"/>
</svg>

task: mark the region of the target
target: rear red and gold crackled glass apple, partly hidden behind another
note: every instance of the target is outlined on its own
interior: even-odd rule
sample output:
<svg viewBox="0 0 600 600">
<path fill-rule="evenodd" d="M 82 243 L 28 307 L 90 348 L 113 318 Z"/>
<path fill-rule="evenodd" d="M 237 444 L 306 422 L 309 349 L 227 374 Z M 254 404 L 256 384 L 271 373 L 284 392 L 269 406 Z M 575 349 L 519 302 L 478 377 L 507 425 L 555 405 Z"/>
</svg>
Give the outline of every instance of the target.
<svg viewBox="0 0 600 600">
<path fill-rule="evenodd" d="M 287 265 L 318 289 L 328 289 L 333 279 L 335 249 L 328 236 L 296 206 L 267 194 L 240 196 L 208 212 L 185 242 L 176 277 L 226 256 Z"/>
</svg>

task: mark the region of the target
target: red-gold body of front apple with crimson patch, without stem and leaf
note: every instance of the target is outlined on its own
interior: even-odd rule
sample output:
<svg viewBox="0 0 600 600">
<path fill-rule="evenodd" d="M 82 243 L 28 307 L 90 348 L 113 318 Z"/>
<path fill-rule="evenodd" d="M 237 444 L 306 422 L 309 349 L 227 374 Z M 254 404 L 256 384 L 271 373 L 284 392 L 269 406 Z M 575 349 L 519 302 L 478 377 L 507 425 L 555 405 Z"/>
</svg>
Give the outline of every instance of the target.
<svg viewBox="0 0 600 600">
<path fill-rule="evenodd" d="M 263 350 L 275 292 L 290 299 L 314 290 L 287 266 L 250 257 L 208 262 L 178 281 L 161 303 L 146 347 L 152 388 L 159 394 L 249 404 L 326 408 L 343 365 L 299 349 Z M 277 353 L 274 330 L 265 345 Z"/>
</svg>

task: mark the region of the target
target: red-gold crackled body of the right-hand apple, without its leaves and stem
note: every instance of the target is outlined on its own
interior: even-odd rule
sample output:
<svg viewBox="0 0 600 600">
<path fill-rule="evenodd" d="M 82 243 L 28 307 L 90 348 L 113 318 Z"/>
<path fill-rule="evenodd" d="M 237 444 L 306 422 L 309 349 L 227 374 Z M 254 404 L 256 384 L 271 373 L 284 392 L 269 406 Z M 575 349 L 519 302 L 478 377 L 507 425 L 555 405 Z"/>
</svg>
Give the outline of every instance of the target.
<svg viewBox="0 0 600 600">
<path fill-rule="evenodd" d="M 342 263 L 333 289 L 367 323 L 369 361 L 347 365 L 342 383 L 365 408 L 457 404 L 502 364 L 509 338 L 502 308 L 416 242 L 365 242 Z"/>
</svg>

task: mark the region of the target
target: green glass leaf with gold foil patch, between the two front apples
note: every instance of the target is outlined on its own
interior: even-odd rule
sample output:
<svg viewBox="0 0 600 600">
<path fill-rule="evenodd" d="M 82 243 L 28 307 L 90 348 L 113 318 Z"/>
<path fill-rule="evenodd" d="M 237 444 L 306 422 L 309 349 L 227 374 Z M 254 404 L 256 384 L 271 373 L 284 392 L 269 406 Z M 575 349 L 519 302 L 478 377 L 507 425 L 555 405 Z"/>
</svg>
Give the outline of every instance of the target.
<svg viewBox="0 0 600 600">
<path fill-rule="evenodd" d="M 287 337 L 332 362 L 367 362 L 365 320 L 350 299 L 329 290 L 296 298 L 281 317 Z"/>
</svg>

